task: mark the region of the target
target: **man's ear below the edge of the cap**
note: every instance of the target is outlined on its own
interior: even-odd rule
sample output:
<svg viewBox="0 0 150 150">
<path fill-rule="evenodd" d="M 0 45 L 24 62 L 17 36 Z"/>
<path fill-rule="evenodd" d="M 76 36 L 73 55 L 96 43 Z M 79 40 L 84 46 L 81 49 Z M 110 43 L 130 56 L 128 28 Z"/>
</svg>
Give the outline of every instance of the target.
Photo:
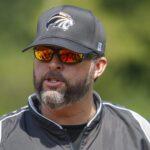
<svg viewBox="0 0 150 150">
<path fill-rule="evenodd" d="M 100 57 L 100 58 L 96 59 L 94 80 L 96 80 L 99 76 L 102 75 L 102 73 L 104 72 L 106 66 L 107 66 L 106 57 Z"/>
</svg>

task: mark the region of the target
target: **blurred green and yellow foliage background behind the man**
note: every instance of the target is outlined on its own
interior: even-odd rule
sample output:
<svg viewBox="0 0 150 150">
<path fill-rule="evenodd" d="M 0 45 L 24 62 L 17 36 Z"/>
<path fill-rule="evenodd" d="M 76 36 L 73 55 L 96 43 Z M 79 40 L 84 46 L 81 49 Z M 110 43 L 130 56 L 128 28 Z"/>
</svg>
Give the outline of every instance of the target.
<svg viewBox="0 0 150 150">
<path fill-rule="evenodd" d="M 108 67 L 95 83 L 102 98 L 150 119 L 150 1 L 0 1 L 0 114 L 27 103 L 34 92 L 32 51 L 22 53 L 36 34 L 37 19 L 51 7 L 71 4 L 90 9 L 107 34 Z"/>
</svg>

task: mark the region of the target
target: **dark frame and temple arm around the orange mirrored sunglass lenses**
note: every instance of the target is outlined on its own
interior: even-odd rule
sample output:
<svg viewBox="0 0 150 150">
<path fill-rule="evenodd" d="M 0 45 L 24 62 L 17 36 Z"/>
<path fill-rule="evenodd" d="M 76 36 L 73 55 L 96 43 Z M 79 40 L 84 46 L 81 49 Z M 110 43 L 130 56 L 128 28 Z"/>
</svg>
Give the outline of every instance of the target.
<svg viewBox="0 0 150 150">
<path fill-rule="evenodd" d="M 39 46 L 39 47 L 40 47 L 40 46 Z M 42 51 L 42 50 L 38 50 L 39 47 L 34 47 L 34 48 L 33 48 L 33 49 L 34 49 L 34 56 L 35 56 L 35 58 L 36 58 L 37 60 L 42 61 L 42 62 L 50 62 L 50 61 L 53 59 L 53 57 L 54 57 L 55 54 L 57 55 L 57 57 L 58 57 L 58 59 L 59 59 L 60 62 L 62 62 L 63 64 L 67 64 L 67 65 L 77 64 L 77 63 L 82 62 L 83 60 L 94 60 L 94 59 L 96 59 L 96 58 L 99 57 L 99 55 L 96 54 L 96 53 L 94 53 L 94 52 L 90 52 L 90 53 L 84 54 L 84 53 L 77 53 L 77 52 L 71 51 L 71 50 L 66 49 L 66 48 L 61 48 L 61 47 L 58 48 L 58 47 L 50 47 L 50 46 L 41 46 L 41 47 L 46 47 L 46 48 L 52 50 L 53 53 L 52 53 L 52 57 L 51 57 L 50 60 L 44 60 L 44 59 L 43 59 L 43 60 L 40 60 L 40 59 L 38 59 L 38 57 L 36 56 L 36 51 Z M 70 63 L 69 63 L 69 62 L 65 62 L 65 61 L 62 60 L 61 54 L 59 53 L 59 52 L 60 52 L 61 50 L 63 50 L 63 49 L 66 49 L 66 50 L 68 50 L 68 51 L 70 51 L 71 53 L 74 53 L 74 54 L 82 54 L 83 57 L 82 57 L 80 60 L 75 61 L 75 62 L 70 62 Z M 64 54 L 62 54 L 62 55 L 64 55 Z"/>
</svg>

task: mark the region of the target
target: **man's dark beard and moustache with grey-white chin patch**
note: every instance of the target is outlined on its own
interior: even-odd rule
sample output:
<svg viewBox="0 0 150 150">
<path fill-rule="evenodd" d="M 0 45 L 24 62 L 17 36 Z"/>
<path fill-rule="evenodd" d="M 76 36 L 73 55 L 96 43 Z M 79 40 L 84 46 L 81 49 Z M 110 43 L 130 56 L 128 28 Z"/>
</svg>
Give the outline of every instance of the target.
<svg viewBox="0 0 150 150">
<path fill-rule="evenodd" d="M 79 102 L 91 87 L 93 73 L 94 66 L 92 65 L 87 75 L 73 84 L 57 71 L 49 71 L 40 80 L 36 79 L 35 72 L 33 72 L 34 87 L 40 103 L 49 106 L 51 109 L 58 109 Z M 43 81 L 47 76 L 62 80 L 65 83 L 65 86 L 61 89 L 49 89 L 45 91 L 43 89 Z"/>
</svg>

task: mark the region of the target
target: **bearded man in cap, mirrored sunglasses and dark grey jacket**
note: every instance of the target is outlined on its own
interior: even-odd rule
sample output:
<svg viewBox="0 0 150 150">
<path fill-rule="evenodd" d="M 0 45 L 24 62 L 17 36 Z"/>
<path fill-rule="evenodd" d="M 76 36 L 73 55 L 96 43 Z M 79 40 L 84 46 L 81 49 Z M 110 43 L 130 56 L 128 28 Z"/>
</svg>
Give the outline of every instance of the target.
<svg viewBox="0 0 150 150">
<path fill-rule="evenodd" d="M 35 93 L 1 117 L 0 150 L 150 150 L 150 125 L 93 91 L 107 59 L 105 33 L 88 10 L 59 6 L 39 19 Z"/>
</svg>

